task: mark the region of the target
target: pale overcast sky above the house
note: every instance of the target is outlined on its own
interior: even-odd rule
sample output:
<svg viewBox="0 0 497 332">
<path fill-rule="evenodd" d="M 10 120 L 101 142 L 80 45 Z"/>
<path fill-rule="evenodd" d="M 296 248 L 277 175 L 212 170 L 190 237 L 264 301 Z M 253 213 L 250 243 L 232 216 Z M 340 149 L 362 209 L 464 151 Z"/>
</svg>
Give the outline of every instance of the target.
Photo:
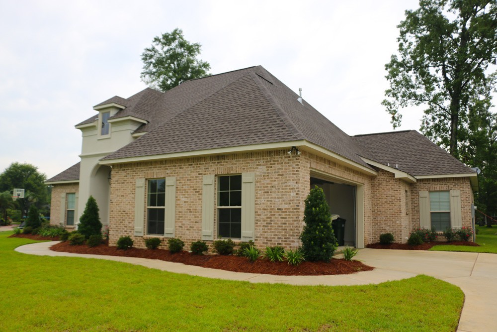
<svg viewBox="0 0 497 332">
<path fill-rule="evenodd" d="M 413 0 L 0 0 L 0 172 L 48 178 L 79 161 L 74 126 L 146 88 L 140 55 L 178 27 L 211 74 L 262 65 L 349 135 L 392 131 L 385 64 Z M 419 129 L 405 109 L 395 130 Z"/>
</svg>

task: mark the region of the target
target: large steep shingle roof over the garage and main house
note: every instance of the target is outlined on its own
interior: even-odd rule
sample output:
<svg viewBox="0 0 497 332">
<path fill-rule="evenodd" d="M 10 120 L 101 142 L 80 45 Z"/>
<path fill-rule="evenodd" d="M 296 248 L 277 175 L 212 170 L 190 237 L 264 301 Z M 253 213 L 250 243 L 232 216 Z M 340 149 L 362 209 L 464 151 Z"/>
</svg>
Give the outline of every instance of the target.
<svg viewBox="0 0 497 332">
<path fill-rule="evenodd" d="M 297 98 L 261 66 L 190 80 L 156 101 L 137 130 L 146 135 L 104 159 L 306 139 L 369 167 L 350 136 Z"/>
</svg>

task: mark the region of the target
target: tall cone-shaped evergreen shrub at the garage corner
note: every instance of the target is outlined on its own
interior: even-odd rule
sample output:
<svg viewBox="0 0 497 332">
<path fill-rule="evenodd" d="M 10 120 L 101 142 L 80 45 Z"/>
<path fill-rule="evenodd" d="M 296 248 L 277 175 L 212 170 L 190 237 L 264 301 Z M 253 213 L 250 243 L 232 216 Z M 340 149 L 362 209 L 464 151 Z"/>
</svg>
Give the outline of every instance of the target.
<svg viewBox="0 0 497 332">
<path fill-rule="evenodd" d="M 305 201 L 304 222 L 300 240 L 308 261 L 329 261 L 337 247 L 331 228 L 331 214 L 323 189 L 311 189 Z"/>
</svg>

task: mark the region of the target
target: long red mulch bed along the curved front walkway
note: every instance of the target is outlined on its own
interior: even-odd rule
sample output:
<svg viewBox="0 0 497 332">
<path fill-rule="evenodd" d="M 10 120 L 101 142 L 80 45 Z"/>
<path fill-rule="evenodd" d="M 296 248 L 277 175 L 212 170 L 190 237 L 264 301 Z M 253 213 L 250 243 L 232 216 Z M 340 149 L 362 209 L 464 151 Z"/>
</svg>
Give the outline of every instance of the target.
<svg viewBox="0 0 497 332">
<path fill-rule="evenodd" d="M 350 274 L 358 271 L 371 271 L 373 267 L 364 265 L 359 261 L 346 261 L 343 259 L 331 259 L 330 262 L 303 262 L 299 266 L 288 265 L 287 262 L 269 262 L 265 259 L 258 259 L 249 262 L 246 257 L 222 256 L 222 255 L 194 255 L 181 251 L 171 254 L 169 250 L 163 249 L 140 249 L 130 248 L 120 250 L 117 247 L 109 247 L 101 244 L 90 248 L 86 245 L 70 245 L 69 242 L 60 242 L 53 245 L 51 250 L 84 253 L 94 255 L 126 256 L 160 259 L 168 262 L 177 262 L 188 265 L 209 267 L 234 272 L 262 273 L 275 275 L 330 275 L 330 274 Z"/>
</svg>

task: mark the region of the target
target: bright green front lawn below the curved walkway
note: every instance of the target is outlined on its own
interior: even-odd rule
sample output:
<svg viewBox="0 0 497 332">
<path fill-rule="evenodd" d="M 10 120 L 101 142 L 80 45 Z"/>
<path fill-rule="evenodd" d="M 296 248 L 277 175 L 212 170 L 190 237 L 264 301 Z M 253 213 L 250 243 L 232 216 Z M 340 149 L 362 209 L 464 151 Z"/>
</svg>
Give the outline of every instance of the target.
<svg viewBox="0 0 497 332">
<path fill-rule="evenodd" d="M 13 251 L 0 232 L 0 331 L 455 331 L 462 291 L 428 276 L 368 286 L 208 279 Z"/>
</svg>

